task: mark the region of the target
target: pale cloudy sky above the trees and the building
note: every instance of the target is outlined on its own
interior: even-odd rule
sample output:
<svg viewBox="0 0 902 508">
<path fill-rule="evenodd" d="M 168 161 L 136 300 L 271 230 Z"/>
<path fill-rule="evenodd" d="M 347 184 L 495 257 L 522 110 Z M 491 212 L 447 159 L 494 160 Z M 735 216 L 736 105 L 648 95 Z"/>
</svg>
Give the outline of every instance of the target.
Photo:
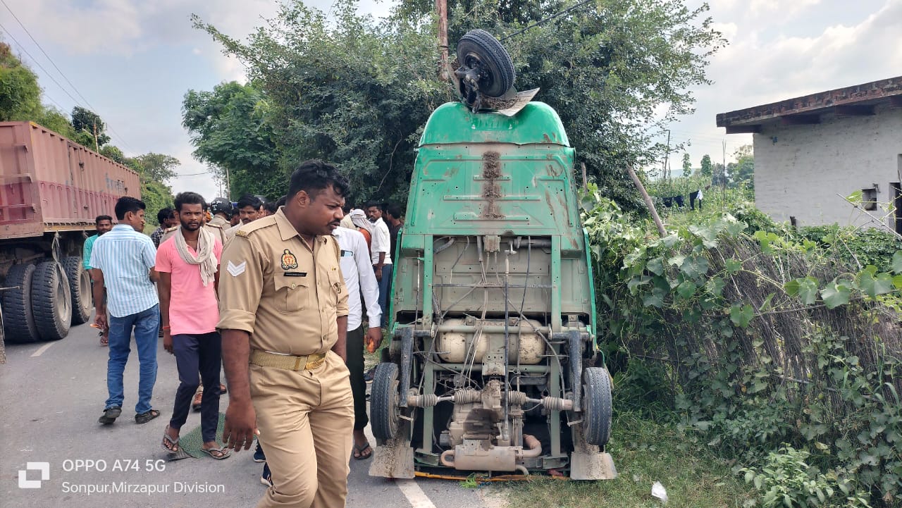
<svg viewBox="0 0 902 508">
<path fill-rule="evenodd" d="M 720 162 L 724 143 L 727 162 L 751 143 L 751 134 L 724 134 L 715 125 L 718 113 L 902 75 L 902 0 L 708 4 L 707 15 L 729 43 L 710 60 L 713 83 L 692 90 L 695 113 L 668 125 L 671 145 L 686 144 L 695 167 L 706 153 Z M 328 12 L 331 1 L 308 5 Z M 376 17 L 390 6 L 390 0 L 360 2 L 362 12 Z M 213 199 L 220 188 L 191 156 L 181 100 L 189 89 L 244 80 L 244 67 L 189 17 L 198 14 L 244 39 L 277 10 L 274 0 L 0 0 L 0 37 L 38 75 L 45 104 L 67 113 L 73 106 L 95 111 L 126 155 L 175 156 L 182 176 L 168 182 L 172 190 Z M 683 152 L 670 157 L 675 174 Z"/>
</svg>

